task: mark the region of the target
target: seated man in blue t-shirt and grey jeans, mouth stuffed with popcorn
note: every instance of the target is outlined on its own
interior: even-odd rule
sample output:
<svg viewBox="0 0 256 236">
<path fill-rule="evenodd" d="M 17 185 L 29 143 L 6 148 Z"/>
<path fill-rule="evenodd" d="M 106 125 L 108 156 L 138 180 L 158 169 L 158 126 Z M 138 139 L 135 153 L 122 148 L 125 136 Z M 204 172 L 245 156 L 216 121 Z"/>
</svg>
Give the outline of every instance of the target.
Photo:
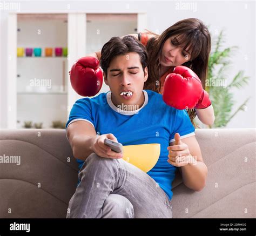
<svg viewBox="0 0 256 236">
<path fill-rule="evenodd" d="M 95 68 L 95 58 L 86 63 Z M 93 66 L 94 65 L 94 66 Z M 113 37 L 100 65 L 110 92 L 77 100 L 66 124 L 79 184 L 68 218 L 172 218 L 172 181 L 180 167 L 184 184 L 200 191 L 207 167 L 185 110 L 167 106 L 156 92 L 143 90 L 147 53 L 132 36 Z M 157 164 L 147 173 L 110 150 L 104 139 L 123 145 L 159 143 Z"/>
</svg>

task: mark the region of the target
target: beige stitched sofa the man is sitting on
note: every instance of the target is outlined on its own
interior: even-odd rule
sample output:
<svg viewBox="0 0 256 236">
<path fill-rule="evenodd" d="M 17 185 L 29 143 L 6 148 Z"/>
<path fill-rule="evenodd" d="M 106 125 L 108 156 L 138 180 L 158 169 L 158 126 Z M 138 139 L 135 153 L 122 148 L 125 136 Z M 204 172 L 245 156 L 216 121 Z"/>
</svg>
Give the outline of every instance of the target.
<svg viewBox="0 0 256 236">
<path fill-rule="evenodd" d="M 196 137 L 207 185 L 194 192 L 177 171 L 173 218 L 255 218 L 255 130 L 201 129 Z M 16 157 L 0 163 L 0 218 L 66 216 L 78 165 L 64 130 L 0 130 L 0 156 Z"/>
</svg>

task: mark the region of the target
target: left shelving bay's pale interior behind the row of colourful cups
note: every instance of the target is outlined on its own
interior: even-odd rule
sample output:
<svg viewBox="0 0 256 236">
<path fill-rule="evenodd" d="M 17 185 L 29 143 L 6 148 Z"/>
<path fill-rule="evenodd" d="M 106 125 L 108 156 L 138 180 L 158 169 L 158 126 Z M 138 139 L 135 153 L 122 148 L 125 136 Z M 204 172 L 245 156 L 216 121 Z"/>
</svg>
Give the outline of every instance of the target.
<svg viewBox="0 0 256 236">
<path fill-rule="evenodd" d="M 55 48 L 68 45 L 67 14 L 22 14 L 17 17 L 17 47 L 41 48 L 42 54 L 17 57 L 17 120 L 18 128 L 25 122 L 65 123 L 68 111 L 67 57 L 55 56 Z M 45 56 L 52 48 L 52 56 Z"/>
</svg>

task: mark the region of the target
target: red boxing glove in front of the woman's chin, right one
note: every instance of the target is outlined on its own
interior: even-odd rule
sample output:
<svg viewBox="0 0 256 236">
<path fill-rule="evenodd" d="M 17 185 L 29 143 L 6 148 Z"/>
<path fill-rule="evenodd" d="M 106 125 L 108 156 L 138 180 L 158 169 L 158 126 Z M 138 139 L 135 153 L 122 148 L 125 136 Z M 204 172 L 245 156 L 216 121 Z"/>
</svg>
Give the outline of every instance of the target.
<svg viewBox="0 0 256 236">
<path fill-rule="evenodd" d="M 176 109 L 202 109 L 211 105 L 201 80 L 186 66 L 179 65 L 165 78 L 164 102 Z"/>
</svg>

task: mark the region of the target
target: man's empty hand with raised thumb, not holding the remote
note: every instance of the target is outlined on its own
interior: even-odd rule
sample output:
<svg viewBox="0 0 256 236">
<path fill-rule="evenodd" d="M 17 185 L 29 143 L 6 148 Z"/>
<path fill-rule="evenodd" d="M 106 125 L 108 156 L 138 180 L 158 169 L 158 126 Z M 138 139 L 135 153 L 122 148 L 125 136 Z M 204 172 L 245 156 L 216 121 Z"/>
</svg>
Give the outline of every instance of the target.
<svg viewBox="0 0 256 236">
<path fill-rule="evenodd" d="M 185 166 L 189 163 L 196 163 L 196 159 L 191 156 L 188 146 L 181 142 L 179 133 L 175 134 L 174 139 L 175 144 L 167 147 L 167 150 L 169 150 L 168 163 L 177 167 Z"/>
</svg>

